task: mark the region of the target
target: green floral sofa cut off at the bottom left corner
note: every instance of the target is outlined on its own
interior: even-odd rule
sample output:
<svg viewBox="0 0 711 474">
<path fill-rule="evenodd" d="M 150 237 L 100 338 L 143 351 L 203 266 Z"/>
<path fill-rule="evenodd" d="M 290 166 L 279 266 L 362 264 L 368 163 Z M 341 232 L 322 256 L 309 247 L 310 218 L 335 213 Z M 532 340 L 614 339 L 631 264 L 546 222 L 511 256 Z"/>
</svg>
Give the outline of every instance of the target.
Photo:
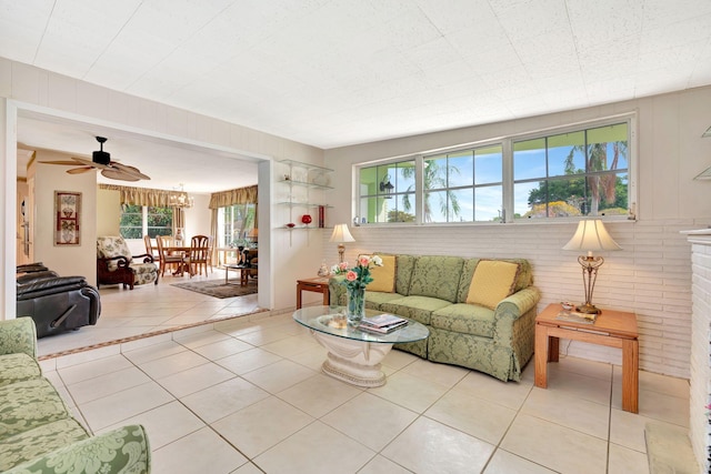
<svg viewBox="0 0 711 474">
<path fill-rule="evenodd" d="M 150 472 L 141 425 L 92 436 L 72 417 L 37 362 L 30 317 L 0 321 L 0 472 Z"/>
</svg>

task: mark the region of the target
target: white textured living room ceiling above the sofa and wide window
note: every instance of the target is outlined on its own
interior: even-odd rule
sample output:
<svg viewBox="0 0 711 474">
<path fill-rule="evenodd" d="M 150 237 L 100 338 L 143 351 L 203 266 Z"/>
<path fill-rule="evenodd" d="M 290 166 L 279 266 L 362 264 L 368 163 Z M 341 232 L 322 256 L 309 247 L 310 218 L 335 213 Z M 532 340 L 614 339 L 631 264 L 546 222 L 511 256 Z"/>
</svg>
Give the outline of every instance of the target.
<svg viewBox="0 0 711 474">
<path fill-rule="evenodd" d="M 711 1 L 0 0 L 0 57 L 329 149 L 711 84 Z"/>
</svg>

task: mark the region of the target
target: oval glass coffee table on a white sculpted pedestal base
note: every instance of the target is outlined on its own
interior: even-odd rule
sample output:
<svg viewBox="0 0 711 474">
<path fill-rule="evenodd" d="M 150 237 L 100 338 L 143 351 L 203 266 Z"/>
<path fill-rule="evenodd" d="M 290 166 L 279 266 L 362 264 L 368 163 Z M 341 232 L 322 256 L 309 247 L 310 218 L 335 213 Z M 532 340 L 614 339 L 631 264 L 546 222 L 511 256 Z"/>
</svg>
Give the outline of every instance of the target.
<svg viewBox="0 0 711 474">
<path fill-rule="evenodd" d="M 382 314 L 382 311 L 365 310 L 365 317 Z M 385 384 L 385 374 L 380 362 L 388 355 L 392 344 L 427 339 L 430 331 L 417 321 L 389 334 L 373 334 L 350 327 L 346 320 L 346 307 L 308 306 L 297 310 L 293 319 L 308 327 L 316 340 L 328 351 L 321 365 L 327 375 L 352 385 L 372 387 Z"/>
</svg>

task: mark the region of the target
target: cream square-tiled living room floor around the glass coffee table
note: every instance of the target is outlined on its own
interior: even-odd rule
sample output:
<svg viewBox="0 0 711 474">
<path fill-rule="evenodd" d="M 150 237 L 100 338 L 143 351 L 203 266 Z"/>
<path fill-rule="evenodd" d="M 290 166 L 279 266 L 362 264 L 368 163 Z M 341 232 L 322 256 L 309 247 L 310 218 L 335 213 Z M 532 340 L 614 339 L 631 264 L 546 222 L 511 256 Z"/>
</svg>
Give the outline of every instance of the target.
<svg viewBox="0 0 711 474">
<path fill-rule="evenodd" d="M 157 291 L 151 317 L 220 306 Z M 172 304 L 182 316 L 158 315 Z M 388 383 L 363 390 L 323 375 L 324 354 L 290 314 L 257 313 L 42 364 L 92 431 L 144 424 L 154 473 L 647 473 L 644 424 L 688 425 L 687 381 L 641 372 L 635 415 L 609 364 L 561 357 L 542 390 L 532 363 L 502 383 L 392 351 Z"/>
</svg>

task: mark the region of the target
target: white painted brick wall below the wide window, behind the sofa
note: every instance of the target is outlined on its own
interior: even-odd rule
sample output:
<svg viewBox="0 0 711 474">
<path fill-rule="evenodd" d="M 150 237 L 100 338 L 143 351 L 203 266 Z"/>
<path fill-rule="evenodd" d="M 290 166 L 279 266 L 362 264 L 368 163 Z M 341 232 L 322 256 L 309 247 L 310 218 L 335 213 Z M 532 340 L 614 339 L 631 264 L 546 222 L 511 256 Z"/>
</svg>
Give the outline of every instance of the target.
<svg viewBox="0 0 711 474">
<path fill-rule="evenodd" d="M 640 367 L 689 377 L 691 347 L 691 244 L 680 232 L 708 226 L 708 220 L 611 222 L 607 228 L 622 246 L 603 252 L 593 294 L 599 307 L 637 314 L 640 330 Z M 378 251 L 482 258 L 524 258 L 533 266 L 541 291 L 539 311 L 563 300 L 582 301 L 578 253 L 563 251 L 577 223 L 492 224 L 451 226 L 351 226 L 356 242 L 346 258 Z M 337 259 L 336 244 L 323 234 L 327 262 Z M 621 363 L 619 350 L 567 341 L 561 351 L 584 359 Z"/>
</svg>

